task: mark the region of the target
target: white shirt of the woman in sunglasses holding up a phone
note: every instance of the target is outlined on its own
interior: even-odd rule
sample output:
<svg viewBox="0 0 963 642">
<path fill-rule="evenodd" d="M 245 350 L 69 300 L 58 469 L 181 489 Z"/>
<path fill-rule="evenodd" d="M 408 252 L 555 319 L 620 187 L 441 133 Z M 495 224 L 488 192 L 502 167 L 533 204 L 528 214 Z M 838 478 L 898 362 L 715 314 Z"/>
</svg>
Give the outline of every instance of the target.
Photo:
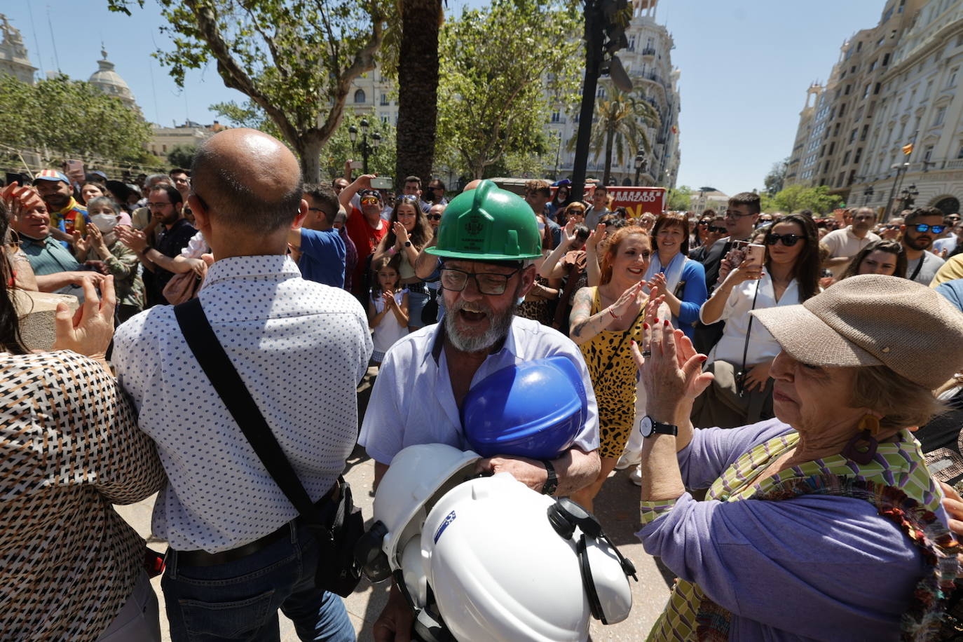
<svg viewBox="0 0 963 642">
<path fill-rule="evenodd" d="M 758 296 L 756 296 L 757 288 L 759 288 Z M 755 307 L 752 305 L 753 297 L 756 298 Z M 749 330 L 749 319 L 751 319 L 749 311 L 783 305 L 796 305 L 798 303 L 801 303 L 801 301 L 799 300 L 799 286 L 795 279 L 786 286 L 786 292 L 783 293 L 778 303 L 772 289 L 772 278 L 768 271 L 763 272 L 763 278 L 758 281 L 742 281 L 732 289 L 729 298 L 726 299 L 722 316 L 718 320 L 725 321 L 725 329 L 722 331 L 722 338 L 719 339 L 716 347 L 713 347 L 709 352 L 709 363 L 725 361 L 733 364 L 736 368 L 741 368 L 742 350 L 745 349 L 745 333 Z M 705 309 L 704 305 L 703 309 Z M 699 321 L 702 321 L 702 310 L 699 311 Z M 749 347 L 745 353 L 746 366 L 754 366 L 768 361 L 779 354 L 781 349 L 778 342 L 769 334 L 766 326 L 759 321 L 752 321 L 752 330 L 749 332 Z"/>
</svg>

